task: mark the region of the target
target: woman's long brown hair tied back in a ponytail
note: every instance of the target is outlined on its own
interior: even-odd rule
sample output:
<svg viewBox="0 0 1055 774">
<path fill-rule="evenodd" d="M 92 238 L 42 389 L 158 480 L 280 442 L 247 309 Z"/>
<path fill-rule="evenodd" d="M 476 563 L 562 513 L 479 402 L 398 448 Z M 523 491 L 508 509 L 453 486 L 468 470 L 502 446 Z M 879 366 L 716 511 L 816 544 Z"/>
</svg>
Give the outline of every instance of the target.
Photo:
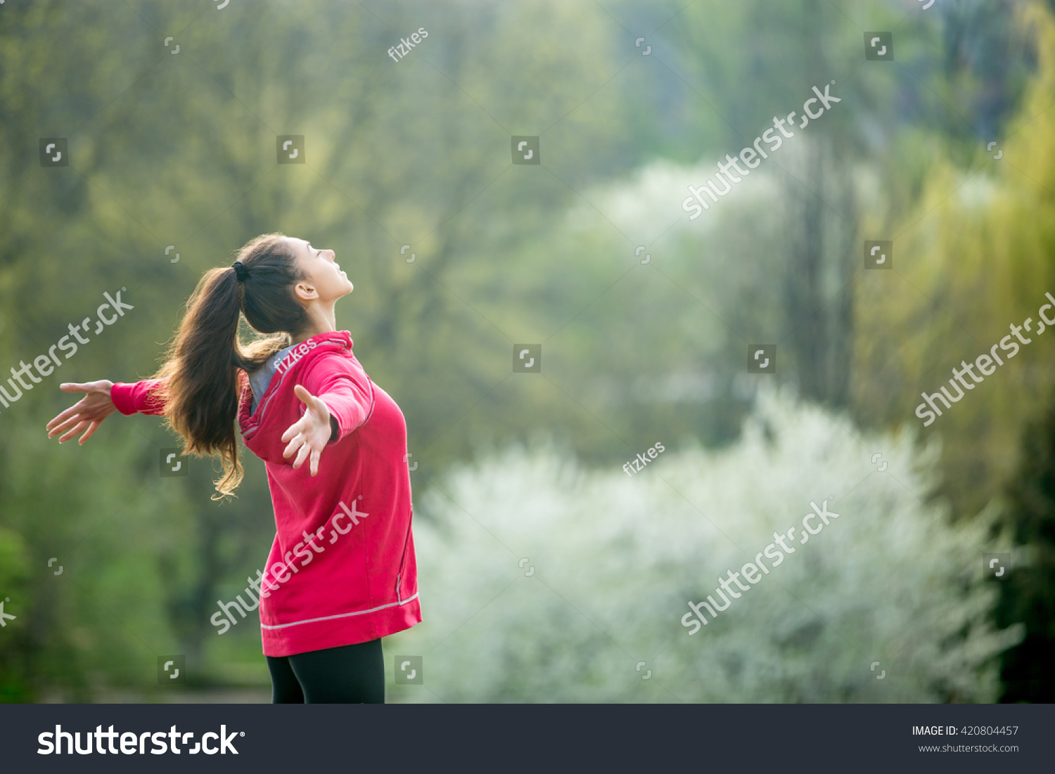
<svg viewBox="0 0 1055 774">
<path fill-rule="evenodd" d="M 305 276 L 286 237 L 262 234 L 238 250 L 245 267 L 239 282 L 231 267 L 210 269 L 187 302 L 187 312 L 155 374 L 165 380 L 165 417 L 184 440 L 185 454 L 218 454 L 224 475 L 213 500 L 230 496 L 242 482 L 238 437 L 238 369 L 252 371 L 289 346 L 307 313 L 293 295 Z M 262 336 L 243 346 L 244 314 Z"/>
</svg>

